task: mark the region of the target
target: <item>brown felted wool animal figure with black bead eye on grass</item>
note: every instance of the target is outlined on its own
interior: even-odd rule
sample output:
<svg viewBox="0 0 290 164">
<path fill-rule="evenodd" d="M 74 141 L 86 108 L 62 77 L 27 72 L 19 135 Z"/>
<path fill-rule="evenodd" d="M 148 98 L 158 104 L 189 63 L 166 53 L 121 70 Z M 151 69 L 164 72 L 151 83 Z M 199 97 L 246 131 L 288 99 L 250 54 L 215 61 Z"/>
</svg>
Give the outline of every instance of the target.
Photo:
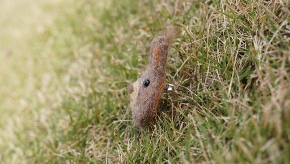
<svg viewBox="0 0 290 164">
<path fill-rule="evenodd" d="M 129 86 L 130 107 L 135 124 L 143 129 L 152 120 L 166 79 L 167 50 L 177 28 L 161 32 L 151 43 L 149 65 Z"/>
</svg>

